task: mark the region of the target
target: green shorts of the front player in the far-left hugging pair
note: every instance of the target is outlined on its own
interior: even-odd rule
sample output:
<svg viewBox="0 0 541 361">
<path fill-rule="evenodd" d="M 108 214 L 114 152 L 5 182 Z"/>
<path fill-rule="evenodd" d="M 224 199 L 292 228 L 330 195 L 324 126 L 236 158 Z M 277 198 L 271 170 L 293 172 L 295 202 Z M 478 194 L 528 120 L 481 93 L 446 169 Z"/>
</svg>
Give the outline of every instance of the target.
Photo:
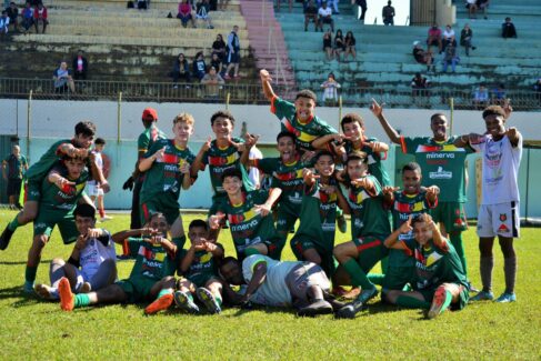
<svg viewBox="0 0 541 361">
<path fill-rule="evenodd" d="M 53 210 L 40 207 L 38 217 L 33 221 L 33 237 L 44 234 L 51 237 L 54 225 L 58 225 L 64 244 L 77 241 L 79 231 L 76 227 L 76 218 L 71 211 Z"/>
</svg>

